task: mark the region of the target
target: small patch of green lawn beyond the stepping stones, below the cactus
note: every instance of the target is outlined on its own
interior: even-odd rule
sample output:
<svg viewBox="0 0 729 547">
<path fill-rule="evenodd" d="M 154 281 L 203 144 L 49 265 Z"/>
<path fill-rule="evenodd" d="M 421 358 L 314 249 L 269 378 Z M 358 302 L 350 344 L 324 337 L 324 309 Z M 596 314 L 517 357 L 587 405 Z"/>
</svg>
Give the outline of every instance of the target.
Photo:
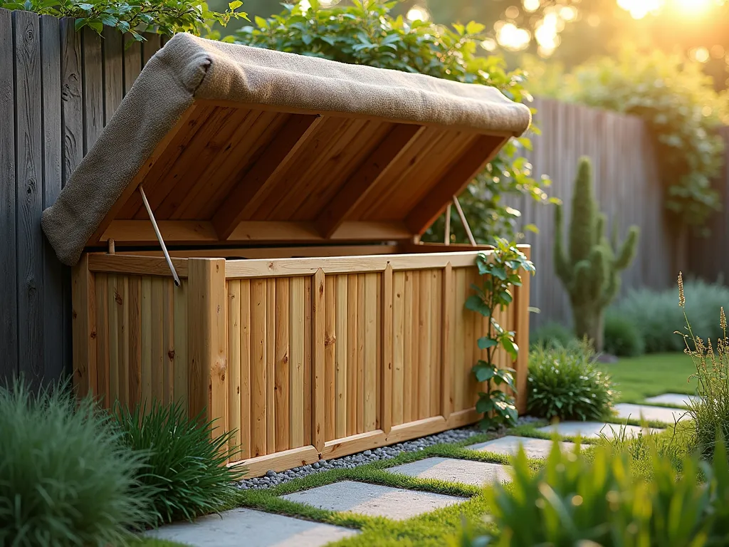
<svg viewBox="0 0 729 547">
<path fill-rule="evenodd" d="M 620 392 L 618 403 L 642 403 L 646 397 L 663 393 L 693 394 L 696 381 L 691 358 L 682 353 L 662 353 L 621 359 L 602 365 Z"/>
</svg>

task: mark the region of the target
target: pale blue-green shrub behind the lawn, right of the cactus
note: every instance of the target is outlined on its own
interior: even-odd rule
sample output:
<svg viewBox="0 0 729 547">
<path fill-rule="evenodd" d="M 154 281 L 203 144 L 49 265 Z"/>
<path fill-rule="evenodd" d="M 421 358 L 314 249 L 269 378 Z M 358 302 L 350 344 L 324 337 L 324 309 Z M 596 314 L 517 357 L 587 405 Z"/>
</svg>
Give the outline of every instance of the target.
<svg viewBox="0 0 729 547">
<path fill-rule="evenodd" d="M 694 331 L 713 340 L 721 338 L 717 317 L 721 304 L 729 302 L 729 287 L 689 281 L 685 284 L 685 293 L 686 309 Z M 685 349 L 682 338 L 674 334 L 677 325 L 684 322 L 681 310 L 676 306 L 675 290 L 633 290 L 612 311 L 631 319 L 638 326 L 647 353 L 682 352 Z"/>
</svg>

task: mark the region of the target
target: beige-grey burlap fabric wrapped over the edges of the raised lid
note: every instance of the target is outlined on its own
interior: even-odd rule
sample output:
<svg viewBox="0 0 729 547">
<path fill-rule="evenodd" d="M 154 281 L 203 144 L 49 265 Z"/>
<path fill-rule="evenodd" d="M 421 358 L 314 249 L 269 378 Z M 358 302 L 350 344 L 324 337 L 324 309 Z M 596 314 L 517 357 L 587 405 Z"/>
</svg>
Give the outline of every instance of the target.
<svg viewBox="0 0 729 547">
<path fill-rule="evenodd" d="M 526 106 L 483 85 L 177 34 L 147 63 L 58 200 L 43 212 L 43 230 L 61 262 L 78 262 L 122 190 L 195 98 L 515 135 L 531 121 Z"/>
</svg>

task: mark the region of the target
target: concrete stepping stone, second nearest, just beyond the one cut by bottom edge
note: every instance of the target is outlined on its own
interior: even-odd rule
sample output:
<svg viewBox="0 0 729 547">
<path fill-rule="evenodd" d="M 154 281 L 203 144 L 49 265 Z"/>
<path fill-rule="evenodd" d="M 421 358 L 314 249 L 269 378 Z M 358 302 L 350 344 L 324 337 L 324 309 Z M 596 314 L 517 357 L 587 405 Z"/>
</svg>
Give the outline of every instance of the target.
<svg viewBox="0 0 729 547">
<path fill-rule="evenodd" d="M 335 482 L 303 492 L 286 494 L 283 497 L 285 500 L 306 503 L 330 511 L 386 516 L 388 519 L 398 521 L 467 501 L 465 497 L 403 490 L 355 481 Z"/>
</svg>

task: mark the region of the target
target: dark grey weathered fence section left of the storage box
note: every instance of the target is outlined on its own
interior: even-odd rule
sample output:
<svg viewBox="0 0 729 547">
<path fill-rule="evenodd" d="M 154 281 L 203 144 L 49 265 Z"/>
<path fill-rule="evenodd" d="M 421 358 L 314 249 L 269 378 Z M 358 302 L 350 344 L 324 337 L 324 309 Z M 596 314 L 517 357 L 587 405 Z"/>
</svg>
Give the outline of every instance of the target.
<svg viewBox="0 0 729 547">
<path fill-rule="evenodd" d="M 70 274 L 40 217 L 160 48 L 147 38 L 0 9 L 0 379 L 70 371 Z"/>
</svg>

